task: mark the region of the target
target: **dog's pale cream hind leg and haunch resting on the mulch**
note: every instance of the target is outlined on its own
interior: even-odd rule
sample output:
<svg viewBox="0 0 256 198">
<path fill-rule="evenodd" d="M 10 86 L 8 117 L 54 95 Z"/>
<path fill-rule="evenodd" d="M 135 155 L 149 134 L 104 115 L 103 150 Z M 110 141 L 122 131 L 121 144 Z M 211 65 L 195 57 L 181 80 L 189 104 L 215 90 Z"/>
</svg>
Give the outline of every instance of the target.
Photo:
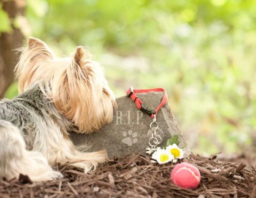
<svg viewBox="0 0 256 198">
<path fill-rule="evenodd" d="M 62 174 L 53 171 L 41 153 L 26 150 L 21 132 L 12 123 L 0 120 L 0 178 L 28 175 L 32 181 L 47 181 Z"/>
</svg>

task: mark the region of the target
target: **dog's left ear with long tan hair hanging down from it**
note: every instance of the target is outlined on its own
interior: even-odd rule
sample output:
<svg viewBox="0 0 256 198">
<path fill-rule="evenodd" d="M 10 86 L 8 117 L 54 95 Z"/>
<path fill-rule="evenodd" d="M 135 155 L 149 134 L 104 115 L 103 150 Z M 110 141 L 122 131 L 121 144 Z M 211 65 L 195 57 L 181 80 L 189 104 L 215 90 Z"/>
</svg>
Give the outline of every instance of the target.
<svg viewBox="0 0 256 198">
<path fill-rule="evenodd" d="M 29 38 L 27 48 L 22 51 L 19 62 L 15 67 L 18 78 L 19 93 L 33 84 L 33 75 L 42 63 L 53 59 L 53 53 L 45 42 L 38 38 Z"/>
</svg>

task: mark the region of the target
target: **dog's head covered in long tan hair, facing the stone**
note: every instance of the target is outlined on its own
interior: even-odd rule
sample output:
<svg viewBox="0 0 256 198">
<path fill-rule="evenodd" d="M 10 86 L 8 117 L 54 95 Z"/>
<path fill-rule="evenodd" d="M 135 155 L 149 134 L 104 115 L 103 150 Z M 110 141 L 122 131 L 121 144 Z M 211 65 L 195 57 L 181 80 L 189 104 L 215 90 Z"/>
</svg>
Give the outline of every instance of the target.
<svg viewBox="0 0 256 198">
<path fill-rule="evenodd" d="M 112 121 L 115 97 L 100 65 L 79 46 L 71 57 L 55 57 L 39 39 L 29 38 L 15 68 L 19 93 L 38 84 L 42 92 L 80 132 Z"/>
</svg>

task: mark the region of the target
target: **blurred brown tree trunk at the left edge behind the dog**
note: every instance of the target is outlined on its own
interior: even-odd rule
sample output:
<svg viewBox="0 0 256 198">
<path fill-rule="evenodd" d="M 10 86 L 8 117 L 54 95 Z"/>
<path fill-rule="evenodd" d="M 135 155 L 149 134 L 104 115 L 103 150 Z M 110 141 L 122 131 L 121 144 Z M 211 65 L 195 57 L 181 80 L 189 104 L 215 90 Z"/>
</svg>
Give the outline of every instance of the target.
<svg viewBox="0 0 256 198">
<path fill-rule="evenodd" d="M 23 15 L 25 10 L 24 0 L 0 0 L 3 5 L 3 10 L 6 11 L 11 19 L 15 19 L 17 15 Z M 12 32 L 0 33 L 0 98 L 4 96 L 4 93 L 8 86 L 13 82 L 13 69 L 19 54 L 14 51 L 21 46 L 23 41 L 23 34 L 20 29 L 13 27 Z"/>
</svg>

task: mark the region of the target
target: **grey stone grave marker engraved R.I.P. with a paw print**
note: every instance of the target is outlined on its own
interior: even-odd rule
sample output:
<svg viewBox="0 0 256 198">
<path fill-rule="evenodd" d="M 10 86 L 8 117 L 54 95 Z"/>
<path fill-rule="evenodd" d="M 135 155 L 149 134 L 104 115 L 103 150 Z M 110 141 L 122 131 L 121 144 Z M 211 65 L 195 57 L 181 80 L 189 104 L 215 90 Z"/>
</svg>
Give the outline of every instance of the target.
<svg viewBox="0 0 256 198">
<path fill-rule="evenodd" d="M 146 107 L 151 109 L 155 109 L 162 101 L 162 93 L 158 92 L 139 93 L 137 96 Z M 149 125 L 152 118 L 137 109 L 135 103 L 127 96 L 119 97 L 116 101 L 118 109 L 114 111 L 112 123 L 90 135 L 71 132 L 71 140 L 75 145 L 86 143 L 90 146 L 88 151 L 106 149 L 109 158 L 125 156 L 133 152 L 145 154 L 146 147 L 149 146 L 147 133 L 150 130 Z M 159 145 L 160 147 L 164 147 L 167 139 L 176 133 L 180 135 L 180 146 L 186 144 L 168 103 L 158 112 L 156 121 L 164 132 L 164 139 Z M 185 152 L 189 153 L 187 147 L 185 147 Z"/>
</svg>

